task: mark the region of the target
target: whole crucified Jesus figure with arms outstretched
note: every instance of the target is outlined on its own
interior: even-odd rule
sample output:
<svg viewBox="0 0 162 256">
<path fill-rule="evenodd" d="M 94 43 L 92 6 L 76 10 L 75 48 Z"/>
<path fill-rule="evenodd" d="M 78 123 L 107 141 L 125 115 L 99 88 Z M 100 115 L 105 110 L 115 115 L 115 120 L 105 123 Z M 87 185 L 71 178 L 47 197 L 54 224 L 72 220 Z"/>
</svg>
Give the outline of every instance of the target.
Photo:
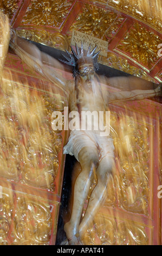
<svg viewBox="0 0 162 256">
<path fill-rule="evenodd" d="M 95 49 L 90 51 L 90 47 L 88 51 L 84 51 L 83 47 L 79 49 L 76 46 L 76 52 L 73 50 L 73 53 L 68 53 L 66 56 L 68 61 L 65 63 L 74 66 L 74 80 L 70 81 L 65 80 L 57 71 L 50 68 L 53 66 L 63 69 L 63 64 L 41 52 L 31 42 L 19 38 L 14 31 L 12 31 L 10 47 L 31 69 L 47 78 L 55 87 L 63 89 L 68 97 L 70 112 L 106 112 L 109 102 L 142 100 L 161 95 L 161 84 L 150 90 L 114 93 L 103 91 L 101 77 L 96 74 L 98 53 L 94 53 Z M 151 83 L 133 76 L 106 79 L 112 86 L 113 84 L 133 86 L 138 83 L 142 88 Z M 72 130 L 68 143 L 64 147 L 64 154 L 74 155 L 82 169 L 75 181 L 72 215 L 69 222 L 64 225 L 68 244 L 79 245 L 81 244 L 80 237 L 87 229 L 88 223 L 93 220 L 106 198 L 108 182 L 114 171 L 113 139 L 111 135 L 100 136 L 100 131 L 93 127 L 91 131 Z M 85 216 L 80 221 L 94 175 L 97 177 L 97 184 L 90 194 Z"/>
</svg>

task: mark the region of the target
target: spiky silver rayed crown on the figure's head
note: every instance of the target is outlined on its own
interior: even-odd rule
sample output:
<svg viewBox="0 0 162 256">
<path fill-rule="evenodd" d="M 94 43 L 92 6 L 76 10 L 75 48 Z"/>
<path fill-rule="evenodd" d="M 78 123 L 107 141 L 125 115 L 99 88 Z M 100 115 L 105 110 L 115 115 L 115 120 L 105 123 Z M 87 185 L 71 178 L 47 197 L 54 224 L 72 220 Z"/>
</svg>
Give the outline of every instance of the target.
<svg viewBox="0 0 162 256">
<path fill-rule="evenodd" d="M 79 50 L 79 47 L 77 46 L 77 44 L 75 44 L 75 47 L 76 47 L 76 52 L 73 50 L 72 46 L 71 46 L 71 49 L 72 49 L 72 53 L 69 53 L 67 50 L 67 54 L 64 54 L 64 53 L 61 53 L 62 56 L 66 59 L 66 60 L 62 60 L 60 59 L 61 62 L 67 64 L 67 65 L 70 65 L 70 66 L 74 66 L 74 69 L 73 69 L 73 76 L 76 76 L 76 75 L 80 75 L 80 76 L 83 76 L 83 75 L 86 75 L 86 74 L 90 74 L 90 72 L 93 72 L 94 70 L 98 70 L 99 69 L 99 65 L 98 65 L 98 55 L 100 53 L 100 51 L 98 51 L 97 53 L 95 53 L 95 50 L 97 48 L 97 46 L 94 47 L 94 49 L 92 50 L 92 52 L 90 52 L 90 47 L 91 47 L 91 44 L 89 45 L 88 47 L 88 51 L 87 53 L 85 54 L 84 50 L 83 50 L 83 44 L 81 42 L 81 50 Z M 94 64 L 94 69 L 92 68 L 88 68 L 87 69 L 84 69 L 84 70 L 78 70 L 77 69 L 77 60 L 83 58 L 83 57 L 88 57 L 88 58 L 91 58 L 93 60 L 93 64 Z"/>
</svg>

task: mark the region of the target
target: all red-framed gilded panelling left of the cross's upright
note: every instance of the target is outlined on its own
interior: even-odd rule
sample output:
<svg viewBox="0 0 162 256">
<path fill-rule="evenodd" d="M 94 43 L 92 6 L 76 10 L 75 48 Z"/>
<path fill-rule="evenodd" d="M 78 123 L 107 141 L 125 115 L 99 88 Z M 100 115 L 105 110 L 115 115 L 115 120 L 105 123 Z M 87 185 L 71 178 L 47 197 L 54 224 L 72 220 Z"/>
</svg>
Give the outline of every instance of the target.
<svg viewBox="0 0 162 256">
<path fill-rule="evenodd" d="M 51 115 L 63 113 L 65 101 L 48 83 L 24 77 L 21 65 L 14 75 L 7 66 L 0 94 L 0 244 L 54 245 L 66 136 L 52 130 Z"/>
</svg>

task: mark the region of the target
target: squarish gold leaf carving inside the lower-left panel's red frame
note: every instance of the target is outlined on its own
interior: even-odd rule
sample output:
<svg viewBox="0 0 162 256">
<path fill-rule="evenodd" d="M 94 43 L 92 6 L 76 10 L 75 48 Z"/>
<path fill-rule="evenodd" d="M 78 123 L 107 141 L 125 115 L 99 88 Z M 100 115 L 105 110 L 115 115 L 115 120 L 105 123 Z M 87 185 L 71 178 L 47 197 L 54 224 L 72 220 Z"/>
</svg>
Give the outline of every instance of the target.
<svg viewBox="0 0 162 256">
<path fill-rule="evenodd" d="M 52 218 L 49 205 L 40 200 L 17 197 L 13 245 L 48 245 Z"/>
</svg>

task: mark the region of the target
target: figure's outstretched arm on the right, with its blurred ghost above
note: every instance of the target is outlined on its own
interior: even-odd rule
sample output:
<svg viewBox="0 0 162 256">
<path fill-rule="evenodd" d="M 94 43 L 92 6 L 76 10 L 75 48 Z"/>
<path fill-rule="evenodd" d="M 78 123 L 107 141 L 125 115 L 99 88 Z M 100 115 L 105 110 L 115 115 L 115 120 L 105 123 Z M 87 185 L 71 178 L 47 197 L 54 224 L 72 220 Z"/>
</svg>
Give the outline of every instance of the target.
<svg viewBox="0 0 162 256">
<path fill-rule="evenodd" d="M 125 81 L 127 84 L 126 86 L 128 87 L 128 83 L 131 83 L 132 87 L 135 86 L 135 82 L 138 82 L 138 87 L 144 87 L 146 88 L 147 84 L 151 86 L 151 82 L 147 82 L 142 79 L 137 79 L 135 77 L 121 77 L 121 78 L 114 78 L 114 84 L 115 84 L 115 79 L 116 82 L 120 83 L 120 86 L 124 86 L 125 84 L 122 84 L 122 81 Z M 113 81 L 113 79 L 112 79 Z M 116 84 L 119 85 L 119 84 Z M 152 83 L 153 87 L 153 83 Z M 147 99 L 150 97 L 154 96 L 160 96 L 162 95 L 162 86 L 161 84 L 155 89 L 150 89 L 150 90 L 132 90 L 132 91 L 121 91 L 121 92 L 115 92 L 109 94 L 109 102 L 114 102 L 114 101 L 126 101 L 126 100 L 142 100 L 142 99 Z"/>
</svg>

